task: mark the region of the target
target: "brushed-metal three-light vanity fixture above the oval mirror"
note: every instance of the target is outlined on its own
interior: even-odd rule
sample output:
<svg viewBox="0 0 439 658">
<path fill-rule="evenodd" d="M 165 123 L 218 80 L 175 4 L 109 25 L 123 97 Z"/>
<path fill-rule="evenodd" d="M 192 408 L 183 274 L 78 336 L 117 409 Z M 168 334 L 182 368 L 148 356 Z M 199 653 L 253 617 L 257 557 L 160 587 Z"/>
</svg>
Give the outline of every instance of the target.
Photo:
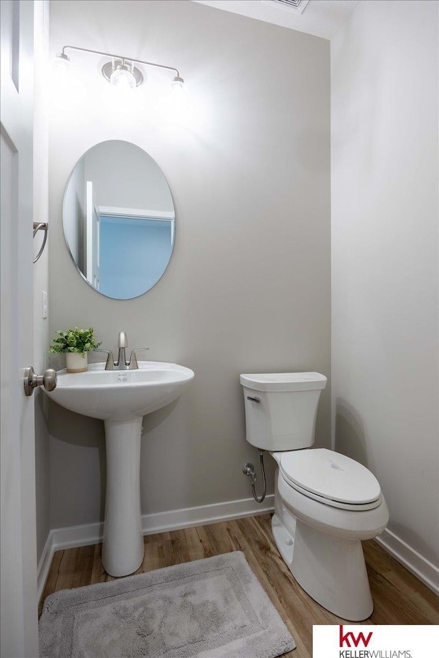
<svg viewBox="0 0 439 658">
<path fill-rule="evenodd" d="M 138 87 L 145 81 L 143 74 L 137 69 L 137 66 L 134 66 L 134 64 L 144 64 L 145 66 L 154 66 L 157 69 L 174 71 L 176 75 L 172 79 L 173 89 L 175 86 L 178 86 L 179 88 L 185 86 L 185 81 L 180 77 L 178 69 L 175 69 L 174 66 L 164 66 L 163 64 L 154 64 L 154 62 L 143 62 L 143 60 L 135 60 L 120 55 L 112 55 L 111 53 L 102 53 L 98 50 L 79 48 L 77 46 L 64 46 L 62 51 L 55 56 L 54 65 L 57 69 L 69 69 L 71 60 L 65 53 L 67 49 L 110 58 L 110 60 L 102 66 L 102 75 L 104 75 L 104 78 L 108 80 L 110 84 L 119 88 L 132 89 Z"/>
</svg>

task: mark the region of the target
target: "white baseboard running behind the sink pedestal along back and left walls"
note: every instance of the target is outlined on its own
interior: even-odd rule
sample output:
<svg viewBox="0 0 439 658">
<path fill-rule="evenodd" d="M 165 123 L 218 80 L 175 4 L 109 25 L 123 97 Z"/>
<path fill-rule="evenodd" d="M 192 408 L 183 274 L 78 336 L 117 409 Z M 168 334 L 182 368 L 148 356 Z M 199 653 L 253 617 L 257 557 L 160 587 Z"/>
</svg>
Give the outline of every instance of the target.
<svg viewBox="0 0 439 658">
<path fill-rule="evenodd" d="M 201 507 L 185 507 L 184 509 L 174 509 L 169 512 L 144 514 L 142 516 L 143 535 L 155 535 L 156 533 L 181 530 L 191 526 L 202 526 L 246 516 L 256 516 L 273 510 L 274 494 L 272 493 L 265 496 L 265 500 L 260 504 L 254 498 L 242 498 L 241 500 L 228 500 L 227 502 L 217 502 L 211 505 L 202 505 Z M 54 528 L 50 531 L 38 563 L 38 600 L 43 594 L 54 552 L 63 548 L 77 548 L 78 546 L 97 544 L 102 541 L 103 533 L 103 523 L 71 526 L 70 528 Z"/>
</svg>

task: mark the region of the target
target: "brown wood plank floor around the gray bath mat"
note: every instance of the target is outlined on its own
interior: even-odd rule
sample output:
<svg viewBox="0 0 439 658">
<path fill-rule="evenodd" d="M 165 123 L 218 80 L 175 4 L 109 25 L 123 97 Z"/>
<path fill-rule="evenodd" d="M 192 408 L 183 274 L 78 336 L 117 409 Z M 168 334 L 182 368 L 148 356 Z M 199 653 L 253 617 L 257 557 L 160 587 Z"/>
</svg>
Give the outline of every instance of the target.
<svg viewBox="0 0 439 658">
<path fill-rule="evenodd" d="M 310 658 L 313 624 L 340 624 L 299 587 L 281 559 L 271 534 L 271 515 L 248 517 L 185 530 L 147 535 L 145 559 L 136 573 L 242 550 L 272 600 L 297 648 L 288 658 Z M 364 624 L 438 624 L 439 598 L 376 541 L 365 541 L 364 555 L 375 601 Z M 101 563 L 101 545 L 58 550 L 40 601 L 59 589 L 112 581 Z"/>
</svg>

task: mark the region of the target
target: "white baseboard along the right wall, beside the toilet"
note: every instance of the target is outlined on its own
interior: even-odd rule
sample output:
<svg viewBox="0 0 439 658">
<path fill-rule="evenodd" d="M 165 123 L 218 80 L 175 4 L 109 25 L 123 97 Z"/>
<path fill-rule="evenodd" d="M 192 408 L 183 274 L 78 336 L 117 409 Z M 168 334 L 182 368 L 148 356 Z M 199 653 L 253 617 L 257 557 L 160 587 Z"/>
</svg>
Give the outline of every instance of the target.
<svg viewBox="0 0 439 658">
<path fill-rule="evenodd" d="M 383 531 L 375 541 L 439 596 L 439 569 L 434 564 L 390 530 Z"/>
</svg>

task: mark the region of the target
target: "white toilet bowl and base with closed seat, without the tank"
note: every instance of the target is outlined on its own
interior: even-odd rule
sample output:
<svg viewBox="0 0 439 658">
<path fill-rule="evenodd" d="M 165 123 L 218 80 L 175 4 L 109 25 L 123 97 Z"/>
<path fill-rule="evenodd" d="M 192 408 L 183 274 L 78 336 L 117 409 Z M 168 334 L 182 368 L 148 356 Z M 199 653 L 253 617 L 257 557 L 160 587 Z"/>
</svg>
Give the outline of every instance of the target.
<svg viewBox="0 0 439 658">
<path fill-rule="evenodd" d="M 289 570 L 309 596 L 338 617 L 368 618 L 373 602 L 361 540 L 377 537 L 389 519 L 375 476 L 331 450 L 272 456 L 279 465 L 272 531 Z M 316 470 L 309 472 L 305 463 Z"/>
</svg>

